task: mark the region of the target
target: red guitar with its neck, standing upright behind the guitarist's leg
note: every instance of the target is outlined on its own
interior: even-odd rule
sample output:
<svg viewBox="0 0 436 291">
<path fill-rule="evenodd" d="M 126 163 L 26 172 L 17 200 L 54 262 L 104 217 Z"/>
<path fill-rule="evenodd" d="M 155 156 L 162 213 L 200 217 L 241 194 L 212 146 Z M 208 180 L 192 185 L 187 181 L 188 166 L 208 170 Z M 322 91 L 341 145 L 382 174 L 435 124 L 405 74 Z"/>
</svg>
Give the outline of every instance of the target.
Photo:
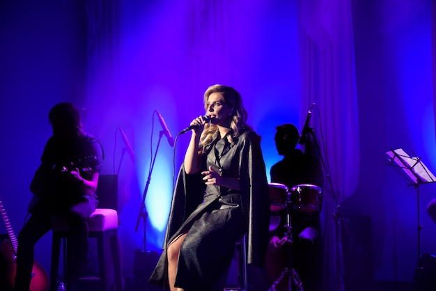
<svg viewBox="0 0 436 291">
<path fill-rule="evenodd" d="M 3 219 L 3 223 L 6 227 L 6 231 L 8 233 L 9 239 L 2 242 L 0 244 L 0 252 L 6 258 L 8 262 L 8 268 L 6 274 L 0 274 L 0 276 L 5 277 L 2 278 L 0 282 L 5 281 L 6 286 L 0 286 L 0 290 L 12 291 L 15 285 L 15 274 L 17 271 L 17 238 L 15 237 L 15 233 L 10 225 L 8 215 L 6 215 L 6 210 L 3 206 L 3 202 L 0 200 L 0 214 Z M 4 280 L 3 280 L 4 279 Z M 30 283 L 29 291 L 48 291 L 49 290 L 49 276 L 45 269 L 38 264 L 38 262 L 33 261 L 32 268 L 32 278 Z"/>
</svg>

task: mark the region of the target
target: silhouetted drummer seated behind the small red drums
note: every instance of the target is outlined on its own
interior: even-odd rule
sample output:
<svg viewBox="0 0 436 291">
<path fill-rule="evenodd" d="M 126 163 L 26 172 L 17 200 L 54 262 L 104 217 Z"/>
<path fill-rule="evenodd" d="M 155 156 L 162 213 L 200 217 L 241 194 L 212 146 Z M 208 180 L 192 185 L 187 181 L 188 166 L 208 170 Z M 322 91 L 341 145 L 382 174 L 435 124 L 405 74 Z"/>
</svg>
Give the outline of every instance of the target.
<svg viewBox="0 0 436 291">
<path fill-rule="evenodd" d="M 272 207 L 275 206 L 272 216 L 275 213 L 281 219 L 270 226 L 266 273 L 270 281 L 276 284 L 277 278 L 283 275 L 283 269 L 292 267 L 297 273 L 295 276 L 294 272 L 293 276 L 293 284 L 297 281 L 294 285 L 296 289 L 294 287 L 292 290 L 301 290 L 299 280 L 304 291 L 322 290 L 322 166 L 319 159 L 296 148 L 299 131 L 295 125 L 279 125 L 276 130 L 274 139 L 283 159 L 271 168 L 270 197 Z M 274 203 L 278 189 L 289 191 L 286 209 L 280 209 Z M 277 291 L 288 290 L 288 278 L 280 280 L 274 288 Z"/>
</svg>

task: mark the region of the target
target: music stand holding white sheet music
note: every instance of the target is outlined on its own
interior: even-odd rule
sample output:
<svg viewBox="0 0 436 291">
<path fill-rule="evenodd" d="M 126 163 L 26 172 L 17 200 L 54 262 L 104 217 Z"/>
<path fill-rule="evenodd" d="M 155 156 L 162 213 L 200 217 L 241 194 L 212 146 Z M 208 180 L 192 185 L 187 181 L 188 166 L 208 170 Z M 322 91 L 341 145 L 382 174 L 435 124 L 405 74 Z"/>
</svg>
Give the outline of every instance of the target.
<svg viewBox="0 0 436 291">
<path fill-rule="evenodd" d="M 436 182 L 436 177 L 428 170 L 427 166 L 421 161 L 421 157 L 410 157 L 402 149 L 396 150 L 390 149 L 386 154 L 389 156 L 387 161 L 389 166 L 393 166 L 397 169 L 401 168 L 403 171 L 399 171 L 407 181 L 410 182 L 407 186 L 414 186 L 416 189 L 416 205 L 417 205 L 417 251 L 418 261 L 421 255 L 421 229 L 423 228 L 419 222 L 419 185 Z"/>
</svg>

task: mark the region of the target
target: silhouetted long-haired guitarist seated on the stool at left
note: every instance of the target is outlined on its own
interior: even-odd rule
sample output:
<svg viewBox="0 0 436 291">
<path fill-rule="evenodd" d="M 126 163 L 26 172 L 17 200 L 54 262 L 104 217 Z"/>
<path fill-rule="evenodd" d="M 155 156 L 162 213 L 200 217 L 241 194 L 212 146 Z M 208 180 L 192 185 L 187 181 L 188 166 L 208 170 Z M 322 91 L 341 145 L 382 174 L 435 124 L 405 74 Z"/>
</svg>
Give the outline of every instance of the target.
<svg viewBox="0 0 436 291">
<path fill-rule="evenodd" d="M 73 262 L 68 266 L 68 281 L 78 278 L 88 263 L 86 219 L 98 204 L 95 191 L 102 147 L 84 132 L 79 110 L 71 103 L 56 104 L 49 111 L 49 123 L 53 135 L 45 145 L 30 185 L 38 201 L 29 207 L 31 217 L 18 235 L 15 291 L 29 291 L 34 246 L 52 228 L 54 215 L 65 215 L 70 229 Z"/>
</svg>

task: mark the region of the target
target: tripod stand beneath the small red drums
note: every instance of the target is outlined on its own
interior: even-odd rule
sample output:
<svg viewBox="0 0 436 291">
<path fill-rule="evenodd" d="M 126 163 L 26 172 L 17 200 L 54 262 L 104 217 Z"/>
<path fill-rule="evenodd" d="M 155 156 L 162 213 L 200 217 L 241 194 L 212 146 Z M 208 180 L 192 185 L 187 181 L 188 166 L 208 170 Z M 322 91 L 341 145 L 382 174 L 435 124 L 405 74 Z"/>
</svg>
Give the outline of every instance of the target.
<svg viewBox="0 0 436 291">
<path fill-rule="evenodd" d="M 297 286 L 297 291 L 304 291 L 302 288 L 302 281 L 300 280 L 297 272 L 295 272 L 295 269 L 293 269 L 293 257 L 292 257 L 292 244 L 293 244 L 293 237 L 292 237 L 292 226 L 290 224 L 290 201 L 286 201 L 286 233 L 285 237 L 288 242 L 288 262 L 289 266 L 285 267 L 283 269 L 283 272 L 281 272 L 279 278 L 277 278 L 274 283 L 272 283 L 270 289 L 268 291 L 276 291 L 277 284 L 280 283 L 280 281 L 283 279 L 283 277 L 288 273 L 288 289 L 287 291 L 292 291 L 292 283 L 294 281 L 295 285 Z"/>
</svg>

